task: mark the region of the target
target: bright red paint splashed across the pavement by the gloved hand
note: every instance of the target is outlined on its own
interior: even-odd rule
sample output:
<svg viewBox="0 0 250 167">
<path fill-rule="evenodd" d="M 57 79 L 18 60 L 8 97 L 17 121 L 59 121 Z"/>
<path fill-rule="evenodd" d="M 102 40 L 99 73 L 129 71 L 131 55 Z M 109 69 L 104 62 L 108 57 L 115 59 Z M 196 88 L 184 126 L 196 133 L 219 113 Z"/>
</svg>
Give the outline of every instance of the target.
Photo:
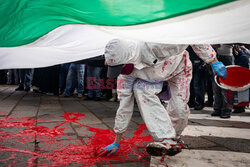
<svg viewBox="0 0 250 167">
<path fill-rule="evenodd" d="M 87 125 L 78 123 L 80 117 L 85 117 L 84 114 L 80 113 L 65 113 L 65 121 L 54 128 L 50 129 L 44 126 L 35 126 L 35 120 L 21 118 L 18 121 L 14 121 L 13 118 L 0 119 L 0 128 L 6 127 L 26 127 L 23 131 L 5 131 L 0 132 L 0 141 L 14 140 L 18 138 L 19 142 L 34 142 L 34 136 L 39 136 L 43 144 L 53 144 L 59 143 L 57 137 L 60 137 L 64 134 L 64 128 L 59 128 L 60 126 L 74 122 L 81 126 L 87 128 L 88 131 L 94 132 L 94 136 L 88 137 L 89 140 L 85 145 L 72 145 L 68 144 L 67 146 L 60 149 L 53 149 L 53 151 L 27 151 L 17 148 L 5 147 L 0 145 L 1 152 L 9 152 L 11 155 L 9 158 L 6 158 L 1 161 L 10 161 L 13 160 L 16 154 L 28 154 L 33 155 L 27 161 L 28 166 L 66 166 L 72 164 L 80 164 L 82 166 L 92 166 L 95 164 L 110 164 L 110 161 L 140 161 L 147 162 L 144 160 L 148 154 L 145 149 L 145 142 L 152 141 L 150 135 L 142 135 L 146 129 L 145 125 L 139 125 L 139 129 L 136 130 L 133 134 L 133 137 L 124 137 L 124 140 L 120 143 L 120 148 L 115 155 L 100 157 L 96 155 L 96 152 L 113 143 L 115 134 L 112 129 L 99 129 L 92 128 Z M 59 146 L 60 144 L 58 144 Z M 38 162 L 35 160 L 38 159 Z M 13 161 L 14 162 L 14 161 Z"/>
</svg>

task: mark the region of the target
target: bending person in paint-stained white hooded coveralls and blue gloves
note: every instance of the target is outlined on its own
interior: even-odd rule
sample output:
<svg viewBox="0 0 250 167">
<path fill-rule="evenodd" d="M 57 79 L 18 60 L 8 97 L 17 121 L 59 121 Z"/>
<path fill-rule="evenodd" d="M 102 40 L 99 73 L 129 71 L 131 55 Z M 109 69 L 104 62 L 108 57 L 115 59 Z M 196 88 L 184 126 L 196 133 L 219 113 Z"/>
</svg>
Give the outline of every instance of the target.
<svg viewBox="0 0 250 167">
<path fill-rule="evenodd" d="M 226 68 L 217 60 L 210 45 L 191 46 L 202 60 L 212 65 L 217 75 L 226 77 Z M 187 47 L 188 45 L 120 39 L 113 39 L 106 45 L 108 77 L 115 78 L 121 73 L 117 82 L 120 106 L 114 126 L 116 139 L 114 143 L 99 150 L 98 155 L 111 155 L 118 150 L 122 134 L 133 114 L 134 99 L 149 133 L 155 140 L 147 145 L 148 153 L 154 156 L 173 156 L 181 151 L 181 142 L 178 139 L 188 123 L 190 110 L 187 102 L 192 78 L 192 64 L 185 50 Z M 168 81 L 171 91 L 167 108 L 164 108 L 157 97 L 163 81 Z"/>
</svg>

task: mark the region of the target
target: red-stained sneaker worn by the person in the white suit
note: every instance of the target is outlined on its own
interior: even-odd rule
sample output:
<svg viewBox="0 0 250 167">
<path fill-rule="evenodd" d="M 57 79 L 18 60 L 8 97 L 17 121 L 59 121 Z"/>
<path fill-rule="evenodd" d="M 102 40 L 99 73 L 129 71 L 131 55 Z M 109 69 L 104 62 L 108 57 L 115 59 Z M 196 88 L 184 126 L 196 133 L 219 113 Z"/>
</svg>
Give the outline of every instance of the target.
<svg viewBox="0 0 250 167">
<path fill-rule="evenodd" d="M 174 156 L 181 152 L 181 145 L 172 139 L 162 142 L 152 142 L 147 145 L 147 152 L 151 156 Z"/>
</svg>

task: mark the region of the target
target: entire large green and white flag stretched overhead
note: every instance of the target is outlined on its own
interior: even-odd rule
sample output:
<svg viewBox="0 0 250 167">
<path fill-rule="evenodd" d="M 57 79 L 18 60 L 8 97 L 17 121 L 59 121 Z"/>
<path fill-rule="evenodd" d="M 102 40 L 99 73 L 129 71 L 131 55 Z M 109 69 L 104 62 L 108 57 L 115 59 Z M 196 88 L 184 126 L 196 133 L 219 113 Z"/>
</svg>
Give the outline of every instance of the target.
<svg viewBox="0 0 250 167">
<path fill-rule="evenodd" d="M 0 1 L 0 69 L 98 56 L 112 38 L 250 43 L 249 0 Z"/>
</svg>

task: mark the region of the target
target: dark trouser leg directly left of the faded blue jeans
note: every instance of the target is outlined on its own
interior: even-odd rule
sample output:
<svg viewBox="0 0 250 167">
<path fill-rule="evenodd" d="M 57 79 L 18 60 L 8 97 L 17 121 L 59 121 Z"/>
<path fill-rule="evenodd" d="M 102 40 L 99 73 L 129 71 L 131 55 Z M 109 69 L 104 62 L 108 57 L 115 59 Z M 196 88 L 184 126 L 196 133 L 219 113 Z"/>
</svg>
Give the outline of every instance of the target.
<svg viewBox="0 0 250 167">
<path fill-rule="evenodd" d="M 59 94 L 64 92 L 66 87 L 66 79 L 69 72 L 70 63 L 65 63 L 61 65 L 60 75 L 59 75 Z"/>
</svg>

